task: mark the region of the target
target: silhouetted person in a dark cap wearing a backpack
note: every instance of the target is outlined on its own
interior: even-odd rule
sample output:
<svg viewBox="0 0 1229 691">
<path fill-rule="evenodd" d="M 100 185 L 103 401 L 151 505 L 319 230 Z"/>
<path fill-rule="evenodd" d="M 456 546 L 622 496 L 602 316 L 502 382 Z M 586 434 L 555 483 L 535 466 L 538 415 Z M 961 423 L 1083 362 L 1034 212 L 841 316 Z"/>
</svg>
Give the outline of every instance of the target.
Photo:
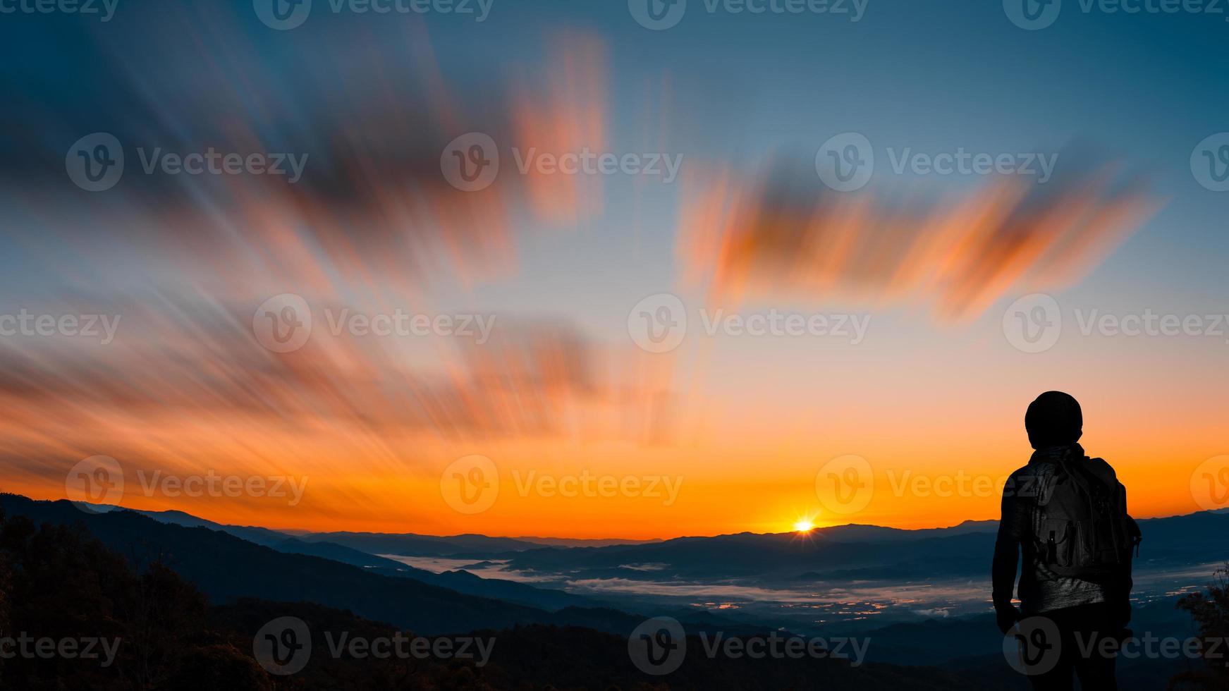
<svg viewBox="0 0 1229 691">
<path fill-rule="evenodd" d="M 1003 488 L 994 543 L 993 599 L 999 630 L 1015 630 L 1034 689 L 1113 690 L 1117 646 L 1129 636 L 1131 556 L 1139 530 L 1126 488 L 1078 444 L 1084 416 L 1072 396 L 1047 391 L 1024 417 L 1035 449 Z M 1011 605 L 1016 555 L 1020 610 Z M 1029 631 L 1016 621 L 1029 620 Z M 1057 638 L 1052 641 L 1050 638 Z"/>
</svg>

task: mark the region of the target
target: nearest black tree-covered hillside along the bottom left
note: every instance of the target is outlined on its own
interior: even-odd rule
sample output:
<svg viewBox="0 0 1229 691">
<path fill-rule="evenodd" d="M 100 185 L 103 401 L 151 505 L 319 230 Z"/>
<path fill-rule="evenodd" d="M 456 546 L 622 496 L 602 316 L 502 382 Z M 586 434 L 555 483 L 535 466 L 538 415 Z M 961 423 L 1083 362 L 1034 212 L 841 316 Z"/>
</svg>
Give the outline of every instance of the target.
<svg viewBox="0 0 1229 691">
<path fill-rule="evenodd" d="M 143 519 L 117 514 L 113 519 Z M 337 641 L 413 638 L 412 631 L 312 602 L 240 599 L 210 605 L 204 594 L 157 561 L 134 568 L 84 529 L 29 516 L 0 516 L 0 631 L 34 638 L 113 642 L 104 660 L 64 654 L 0 659 L 0 687 L 65 690 L 667 690 L 803 689 L 909 691 L 975 689 L 955 673 L 832 658 L 728 658 L 701 654 L 698 639 L 666 677 L 639 671 L 627 637 L 570 626 L 476 631 L 489 658 L 372 657 Z M 124 524 L 95 523 L 109 530 Z M 179 529 L 186 530 L 186 529 Z M 231 536 L 227 539 L 234 540 Z M 229 564 L 219 564 L 226 568 Z M 344 564 L 343 564 L 344 566 Z M 347 567 L 353 568 L 353 567 Z M 438 595 L 439 593 L 433 593 Z M 253 643 L 280 617 L 301 621 L 311 641 L 304 665 L 272 674 Z M 425 641 L 455 644 L 458 638 Z M 302 644 L 305 639 L 295 639 Z M 58 649 L 63 649 L 59 647 Z M 366 649 L 366 648 L 364 648 Z M 374 649 L 374 648 L 372 648 Z M 412 649 L 412 648 L 407 648 Z M 479 664 L 485 663 L 485 664 Z"/>
</svg>

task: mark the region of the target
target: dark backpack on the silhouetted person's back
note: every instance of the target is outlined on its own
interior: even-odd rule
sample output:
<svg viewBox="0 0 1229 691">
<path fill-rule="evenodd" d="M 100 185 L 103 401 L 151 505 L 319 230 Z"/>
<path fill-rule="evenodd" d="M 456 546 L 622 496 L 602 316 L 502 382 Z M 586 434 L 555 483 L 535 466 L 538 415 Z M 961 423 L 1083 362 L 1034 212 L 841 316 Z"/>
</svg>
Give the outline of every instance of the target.
<svg viewBox="0 0 1229 691">
<path fill-rule="evenodd" d="M 1101 459 L 1056 459 L 1037 497 L 1041 563 L 1054 574 L 1110 584 L 1131 575 L 1143 539 L 1127 514 L 1127 488 Z"/>
</svg>

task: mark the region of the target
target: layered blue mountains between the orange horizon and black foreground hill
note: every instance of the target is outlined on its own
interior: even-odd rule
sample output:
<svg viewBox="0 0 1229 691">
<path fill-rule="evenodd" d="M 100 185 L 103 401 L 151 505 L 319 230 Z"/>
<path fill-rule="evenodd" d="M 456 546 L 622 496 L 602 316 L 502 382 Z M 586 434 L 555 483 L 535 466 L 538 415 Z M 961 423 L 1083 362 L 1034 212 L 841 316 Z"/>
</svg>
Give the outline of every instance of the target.
<svg viewBox="0 0 1229 691">
<path fill-rule="evenodd" d="M 773 610 L 771 604 L 755 611 L 724 610 L 678 599 L 667 600 L 666 606 L 658 601 L 658 606 L 646 609 L 651 600 L 639 596 L 594 596 L 490 575 L 533 573 L 547 582 L 551 582 L 547 577 L 558 577 L 563 584 L 613 579 L 646 586 L 686 580 L 746 582 L 762 588 L 772 583 L 849 588 L 855 579 L 928 586 L 936 579 L 984 577 L 997 529 L 995 521 L 966 521 L 928 530 L 843 525 L 809 535 L 745 532 L 559 546 L 481 535 L 291 535 L 218 524 L 182 511 L 107 507 L 84 510 L 66 500 L 42 502 L 16 494 L 0 494 L 0 509 L 10 518 L 27 516 L 36 524 L 79 526 L 138 567 L 161 562 L 193 583 L 216 606 L 234 606 L 251 599 L 265 604 L 315 602 L 420 634 L 547 626 L 627 636 L 646 616 L 673 616 L 689 633 L 762 633 L 805 622 L 805 614 L 803 618 L 782 618 L 766 614 Z M 1193 633 L 1190 617 L 1174 610 L 1169 590 L 1172 583 L 1179 583 L 1175 580 L 1179 572 L 1193 567 L 1195 573 L 1203 573 L 1198 571 L 1203 564 L 1229 556 L 1229 514 L 1204 511 L 1139 523 L 1145 541 L 1137 562 L 1137 583 L 1141 575 L 1152 574 L 1145 578 L 1159 578 L 1156 590 L 1164 596 L 1137 602 L 1134 626 L 1166 636 L 1190 636 Z M 390 556 L 476 562 L 467 568 L 436 572 Z M 1023 681 L 999 676 L 1003 668 L 999 637 L 988 614 L 916 616 L 879 625 L 850 620 L 826 626 L 834 631 L 844 626 L 873 638 L 875 646 L 869 649 L 868 660 L 876 664 L 936 665 L 959 673 L 964 681 L 995 680 L 1004 687 Z M 1159 684 L 1177 671 L 1175 664 L 1123 661 L 1133 675 L 1123 687 Z"/>
</svg>

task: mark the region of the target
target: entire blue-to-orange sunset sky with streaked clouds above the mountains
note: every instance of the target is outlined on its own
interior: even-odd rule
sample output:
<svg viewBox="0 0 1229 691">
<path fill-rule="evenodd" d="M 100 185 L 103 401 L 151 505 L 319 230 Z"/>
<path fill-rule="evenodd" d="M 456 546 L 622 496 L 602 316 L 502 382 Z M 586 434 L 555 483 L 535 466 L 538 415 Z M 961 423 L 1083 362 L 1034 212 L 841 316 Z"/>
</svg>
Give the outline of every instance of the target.
<svg viewBox="0 0 1229 691">
<path fill-rule="evenodd" d="M 1229 505 L 1224 15 L 262 2 L 0 4 L 0 489 L 943 526 L 1062 390 L 1134 515 Z"/>
</svg>

